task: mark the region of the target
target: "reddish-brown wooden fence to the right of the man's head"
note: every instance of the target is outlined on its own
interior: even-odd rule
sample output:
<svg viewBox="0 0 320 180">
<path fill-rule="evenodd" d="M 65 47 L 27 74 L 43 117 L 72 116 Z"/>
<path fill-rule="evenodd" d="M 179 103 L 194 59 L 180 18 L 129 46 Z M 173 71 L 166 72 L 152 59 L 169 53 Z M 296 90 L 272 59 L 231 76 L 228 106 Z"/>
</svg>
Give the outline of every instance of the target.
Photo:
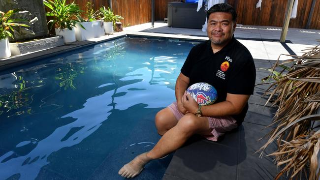
<svg viewBox="0 0 320 180">
<path fill-rule="evenodd" d="M 238 24 L 282 27 L 288 0 L 263 0 L 261 8 L 256 8 L 257 0 L 228 0 L 236 8 Z M 311 29 L 320 29 L 320 3 L 316 3 Z M 289 28 L 305 28 L 312 0 L 299 0 L 297 16 L 290 19 Z"/>
</svg>

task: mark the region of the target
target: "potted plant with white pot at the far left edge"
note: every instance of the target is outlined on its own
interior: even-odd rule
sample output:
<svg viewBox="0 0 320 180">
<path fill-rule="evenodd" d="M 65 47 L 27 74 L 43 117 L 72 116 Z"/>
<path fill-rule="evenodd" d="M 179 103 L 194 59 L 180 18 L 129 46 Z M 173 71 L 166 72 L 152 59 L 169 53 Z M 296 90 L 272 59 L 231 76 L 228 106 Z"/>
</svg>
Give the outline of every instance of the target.
<svg viewBox="0 0 320 180">
<path fill-rule="evenodd" d="M 0 11 L 0 59 L 8 58 L 11 56 L 8 37 L 13 38 L 12 27 L 22 26 L 29 27 L 28 25 L 17 22 L 29 22 L 25 19 L 12 19 L 12 15 L 19 12 L 19 9 L 12 9 L 4 13 Z"/>
</svg>

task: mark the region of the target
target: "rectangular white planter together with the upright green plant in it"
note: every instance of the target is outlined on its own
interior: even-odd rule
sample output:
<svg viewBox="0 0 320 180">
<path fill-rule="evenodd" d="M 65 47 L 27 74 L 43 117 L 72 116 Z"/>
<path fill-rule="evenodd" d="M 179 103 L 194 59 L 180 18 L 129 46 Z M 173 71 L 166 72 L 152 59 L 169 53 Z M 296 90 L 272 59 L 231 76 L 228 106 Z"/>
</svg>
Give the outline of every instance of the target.
<svg viewBox="0 0 320 180">
<path fill-rule="evenodd" d="M 81 28 L 76 25 L 75 27 L 75 36 L 76 40 L 83 41 L 87 39 L 91 39 L 94 37 L 100 37 L 104 35 L 104 28 L 102 20 L 97 20 L 96 17 L 98 15 L 98 11 L 94 11 L 93 4 L 88 1 L 86 4 L 86 16 L 87 20 L 82 18 L 80 15 L 78 16 L 80 20 L 80 24 L 85 28 Z"/>
</svg>

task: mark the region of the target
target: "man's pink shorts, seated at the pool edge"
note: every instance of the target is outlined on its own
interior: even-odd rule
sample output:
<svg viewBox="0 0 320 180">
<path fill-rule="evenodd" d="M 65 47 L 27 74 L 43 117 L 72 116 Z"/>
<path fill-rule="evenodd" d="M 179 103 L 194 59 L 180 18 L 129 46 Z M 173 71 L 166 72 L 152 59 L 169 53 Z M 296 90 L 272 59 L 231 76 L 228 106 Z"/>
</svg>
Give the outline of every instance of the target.
<svg viewBox="0 0 320 180">
<path fill-rule="evenodd" d="M 177 120 L 180 120 L 184 114 L 182 114 L 178 110 L 177 102 L 173 102 L 168 106 L 168 108 L 172 111 L 174 114 L 174 117 Z M 237 121 L 233 119 L 230 116 L 225 116 L 225 117 L 206 117 L 209 122 L 209 128 L 212 129 L 211 133 L 212 136 L 203 136 L 206 139 L 210 141 L 218 141 L 218 138 L 222 136 L 225 132 L 231 131 L 232 129 L 236 128 Z"/>
</svg>

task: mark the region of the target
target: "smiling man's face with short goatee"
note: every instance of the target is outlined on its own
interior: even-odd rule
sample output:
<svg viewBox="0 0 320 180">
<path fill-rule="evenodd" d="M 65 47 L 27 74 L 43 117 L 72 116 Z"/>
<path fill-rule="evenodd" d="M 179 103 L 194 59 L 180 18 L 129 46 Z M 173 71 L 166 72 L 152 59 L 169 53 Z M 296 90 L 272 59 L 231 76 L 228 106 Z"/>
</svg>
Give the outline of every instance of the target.
<svg viewBox="0 0 320 180">
<path fill-rule="evenodd" d="M 236 23 L 227 12 L 211 13 L 208 19 L 207 34 L 214 45 L 225 45 L 232 38 Z"/>
</svg>

